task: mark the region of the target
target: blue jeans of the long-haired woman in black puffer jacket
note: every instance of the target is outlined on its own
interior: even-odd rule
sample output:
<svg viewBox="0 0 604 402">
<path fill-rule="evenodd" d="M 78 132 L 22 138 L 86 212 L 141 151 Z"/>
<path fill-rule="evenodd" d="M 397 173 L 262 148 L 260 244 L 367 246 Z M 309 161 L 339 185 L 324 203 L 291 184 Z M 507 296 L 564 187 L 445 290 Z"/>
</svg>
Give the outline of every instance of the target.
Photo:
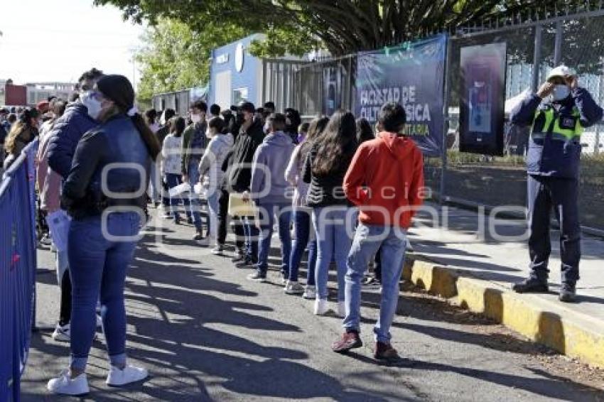
<svg viewBox="0 0 604 402">
<path fill-rule="evenodd" d="M 350 251 L 352 221 L 355 217 L 355 214 L 349 211 L 354 212 L 343 205 L 318 207 L 313 210 L 318 248 L 315 272 L 318 299 L 328 298 L 329 264 L 334 259 L 335 266 L 338 268 L 338 301 L 344 301 L 346 258 Z"/>
</svg>

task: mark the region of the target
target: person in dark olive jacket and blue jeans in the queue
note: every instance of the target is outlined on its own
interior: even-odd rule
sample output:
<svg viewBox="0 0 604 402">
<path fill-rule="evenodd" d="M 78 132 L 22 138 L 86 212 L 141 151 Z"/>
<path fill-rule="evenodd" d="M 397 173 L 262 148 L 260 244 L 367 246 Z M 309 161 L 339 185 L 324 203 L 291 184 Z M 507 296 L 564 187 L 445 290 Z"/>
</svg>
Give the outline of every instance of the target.
<svg viewBox="0 0 604 402">
<path fill-rule="evenodd" d="M 193 191 L 195 183 L 199 181 L 199 163 L 207 146 L 207 121 L 205 114 L 207 104 L 198 100 L 193 102 L 190 108 L 191 124 L 187 126 L 183 133 L 183 162 L 182 173 L 183 182 L 189 183 L 190 192 L 190 211 L 187 211 L 187 220 L 195 225 L 195 236 L 193 239 L 198 241 L 200 246 L 208 246 L 208 239 L 204 239 L 201 224 L 200 207 L 201 202 L 197 194 Z"/>
</svg>

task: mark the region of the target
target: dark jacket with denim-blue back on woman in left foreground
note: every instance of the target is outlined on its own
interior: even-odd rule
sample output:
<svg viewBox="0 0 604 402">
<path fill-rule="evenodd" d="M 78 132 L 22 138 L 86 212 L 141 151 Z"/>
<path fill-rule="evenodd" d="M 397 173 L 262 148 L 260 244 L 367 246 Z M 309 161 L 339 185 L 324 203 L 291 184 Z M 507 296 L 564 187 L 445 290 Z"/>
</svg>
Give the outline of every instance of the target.
<svg viewBox="0 0 604 402">
<path fill-rule="evenodd" d="M 108 166 L 114 163 L 122 166 Z M 141 134 L 128 116 L 115 116 L 88 131 L 77 144 L 61 207 L 74 219 L 100 215 L 113 206 L 143 209 L 149 170 L 151 158 Z M 140 195 L 123 198 L 119 193 Z"/>
</svg>

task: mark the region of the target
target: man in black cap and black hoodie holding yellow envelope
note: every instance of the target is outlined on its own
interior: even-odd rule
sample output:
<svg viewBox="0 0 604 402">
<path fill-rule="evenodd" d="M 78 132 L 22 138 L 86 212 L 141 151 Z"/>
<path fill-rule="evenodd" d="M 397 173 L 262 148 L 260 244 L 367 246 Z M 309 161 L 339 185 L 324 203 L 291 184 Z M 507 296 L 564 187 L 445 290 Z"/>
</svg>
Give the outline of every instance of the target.
<svg viewBox="0 0 604 402">
<path fill-rule="evenodd" d="M 239 134 L 235 138 L 232 155 L 228 158 L 227 183 L 229 192 L 242 196 L 249 191 L 252 180 L 252 160 L 256 148 L 264 140 L 264 131 L 259 120 L 254 119 L 256 108 L 251 102 L 243 102 L 237 113 Z M 239 217 L 234 223 L 235 236 L 245 239 L 244 249 L 237 249 L 232 261 L 237 268 L 247 268 L 258 263 L 258 228 L 254 217 Z"/>
</svg>

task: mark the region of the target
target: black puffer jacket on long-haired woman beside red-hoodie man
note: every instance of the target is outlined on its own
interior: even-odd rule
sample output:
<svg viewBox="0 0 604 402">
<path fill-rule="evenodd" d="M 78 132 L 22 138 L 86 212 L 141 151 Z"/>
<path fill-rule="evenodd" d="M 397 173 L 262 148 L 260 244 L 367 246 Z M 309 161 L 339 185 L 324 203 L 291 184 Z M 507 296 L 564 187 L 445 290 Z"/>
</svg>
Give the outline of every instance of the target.
<svg viewBox="0 0 604 402">
<path fill-rule="evenodd" d="M 313 173 L 313 162 L 317 156 L 317 146 L 308 151 L 304 161 L 303 178 L 304 183 L 310 183 L 306 193 L 306 204 L 309 207 L 330 207 L 332 205 L 351 205 L 343 190 L 344 176 L 355 154 L 356 144 L 350 144 L 346 152 L 346 161 L 340 163 L 335 172 L 329 175 L 316 175 Z"/>
</svg>

